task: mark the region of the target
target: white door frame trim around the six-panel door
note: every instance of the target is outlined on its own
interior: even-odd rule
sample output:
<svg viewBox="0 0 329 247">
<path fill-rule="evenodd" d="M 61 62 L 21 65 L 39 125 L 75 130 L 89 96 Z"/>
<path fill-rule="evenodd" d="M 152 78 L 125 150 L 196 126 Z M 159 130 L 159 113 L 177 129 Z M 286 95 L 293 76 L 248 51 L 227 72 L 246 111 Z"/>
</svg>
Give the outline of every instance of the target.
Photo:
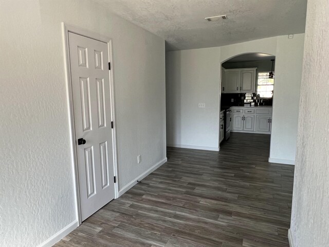
<svg viewBox="0 0 329 247">
<path fill-rule="evenodd" d="M 63 32 L 63 46 L 64 46 L 64 62 L 65 62 L 65 75 L 66 75 L 66 92 L 67 92 L 67 103 L 68 103 L 68 117 L 69 117 L 69 128 L 70 128 L 70 141 L 71 141 L 71 162 L 75 181 L 76 190 L 76 206 L 77 206 L 77 219 L 79 225 L 81 224 L 81 203 L 80 203 L 80 192 L 79 192 L 79 176 L 78 176 L 78 160 L 77 160 L 77 144 L 76 144 L 76 131 L 74 123 L 74 109 L 73 109 L 73 96 L 72 96 L 72 82 L 71 82 L 71 68 L 69 59 L 69 43 L 68 43 L 68 32 L 76 33 L 81 36 L 98 40 L 107 43 L 108 47 L 108 61 L 111 63 L 111 73 L 109 73 L 110 79 L 110 91 L 111 91 L 111 118 L 114 122 L 114 128 L 112 129 L 112 142 L 113 142 L 113 164 L 114 164 L 114 175 L 118 178 L 118 163 L 117 163 L 117 139 L 116 139 L 116 128 L 115 128 L 115 114 L 114 114 L 114 90 L 113 90 L 113 60 L 112 60 L 112 40 L 106 36 L 102 36 L 97 33 L 90 32 L 88 30 L 81 29 L 80 27 L 67 25 L 62 22 Z M 118 179 L 115 186 L 115 198 L 118 198 Z"/>
</svg>

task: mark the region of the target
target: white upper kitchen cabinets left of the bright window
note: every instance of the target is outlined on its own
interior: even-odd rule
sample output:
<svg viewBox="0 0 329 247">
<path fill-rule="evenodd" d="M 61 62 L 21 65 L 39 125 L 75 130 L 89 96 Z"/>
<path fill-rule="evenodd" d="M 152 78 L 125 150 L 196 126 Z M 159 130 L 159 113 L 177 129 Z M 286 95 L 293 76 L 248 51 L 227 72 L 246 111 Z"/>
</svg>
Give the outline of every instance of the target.
<svg viewBox="0 0 329 247">
<path fill-rule="evenodd" d="M 222 93 L 254 93 L 257 68 L 222 68 Z M 223 75 L 225 74 L 225 80 Z"/>
</svg>

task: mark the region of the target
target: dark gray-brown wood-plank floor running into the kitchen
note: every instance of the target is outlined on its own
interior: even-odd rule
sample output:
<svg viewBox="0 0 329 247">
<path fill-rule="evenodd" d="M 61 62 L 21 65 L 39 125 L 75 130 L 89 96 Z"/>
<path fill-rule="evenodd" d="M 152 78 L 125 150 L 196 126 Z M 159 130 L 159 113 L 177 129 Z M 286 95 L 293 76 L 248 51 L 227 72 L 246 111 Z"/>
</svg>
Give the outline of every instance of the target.
<svg viewBox="0 0 329 247">
<path fill-rule="evenodd" d="M 289 246 L 294 166 L 267 162 L 269 135 L 232 133 L 220 153 L 167 156 L 54 246 Z"/>
</svg>

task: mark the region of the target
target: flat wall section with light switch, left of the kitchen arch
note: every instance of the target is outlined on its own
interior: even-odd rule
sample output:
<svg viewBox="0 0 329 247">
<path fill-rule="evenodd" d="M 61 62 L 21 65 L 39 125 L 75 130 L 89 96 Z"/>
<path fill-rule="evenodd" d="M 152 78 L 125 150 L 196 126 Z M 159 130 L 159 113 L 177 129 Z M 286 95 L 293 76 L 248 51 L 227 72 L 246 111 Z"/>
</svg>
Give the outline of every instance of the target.
<svg viewBox="0 0 329 247">
<path fill-rule="evenodd" d="M 220 48 L 166 55 L 168 146 L 218 148 Z M 206 103 L 198 108 L 198 103 Z"/>
</svg>

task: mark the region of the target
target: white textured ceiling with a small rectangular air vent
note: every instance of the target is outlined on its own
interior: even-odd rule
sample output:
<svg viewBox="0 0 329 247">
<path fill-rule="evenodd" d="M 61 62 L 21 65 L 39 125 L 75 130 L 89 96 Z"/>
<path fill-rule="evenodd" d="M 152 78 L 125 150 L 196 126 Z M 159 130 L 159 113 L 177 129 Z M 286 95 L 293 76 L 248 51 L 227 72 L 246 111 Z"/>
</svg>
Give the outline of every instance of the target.
<svg viewBox="0 0 329 247">
<path fill-rule="evenodd" d="M 307 0 L 93 0 L 166 40 L 167 50 L 223 46 L 305 30 Z M 227 14 L 227 20 L 205 17 Z"/>
</svg>

